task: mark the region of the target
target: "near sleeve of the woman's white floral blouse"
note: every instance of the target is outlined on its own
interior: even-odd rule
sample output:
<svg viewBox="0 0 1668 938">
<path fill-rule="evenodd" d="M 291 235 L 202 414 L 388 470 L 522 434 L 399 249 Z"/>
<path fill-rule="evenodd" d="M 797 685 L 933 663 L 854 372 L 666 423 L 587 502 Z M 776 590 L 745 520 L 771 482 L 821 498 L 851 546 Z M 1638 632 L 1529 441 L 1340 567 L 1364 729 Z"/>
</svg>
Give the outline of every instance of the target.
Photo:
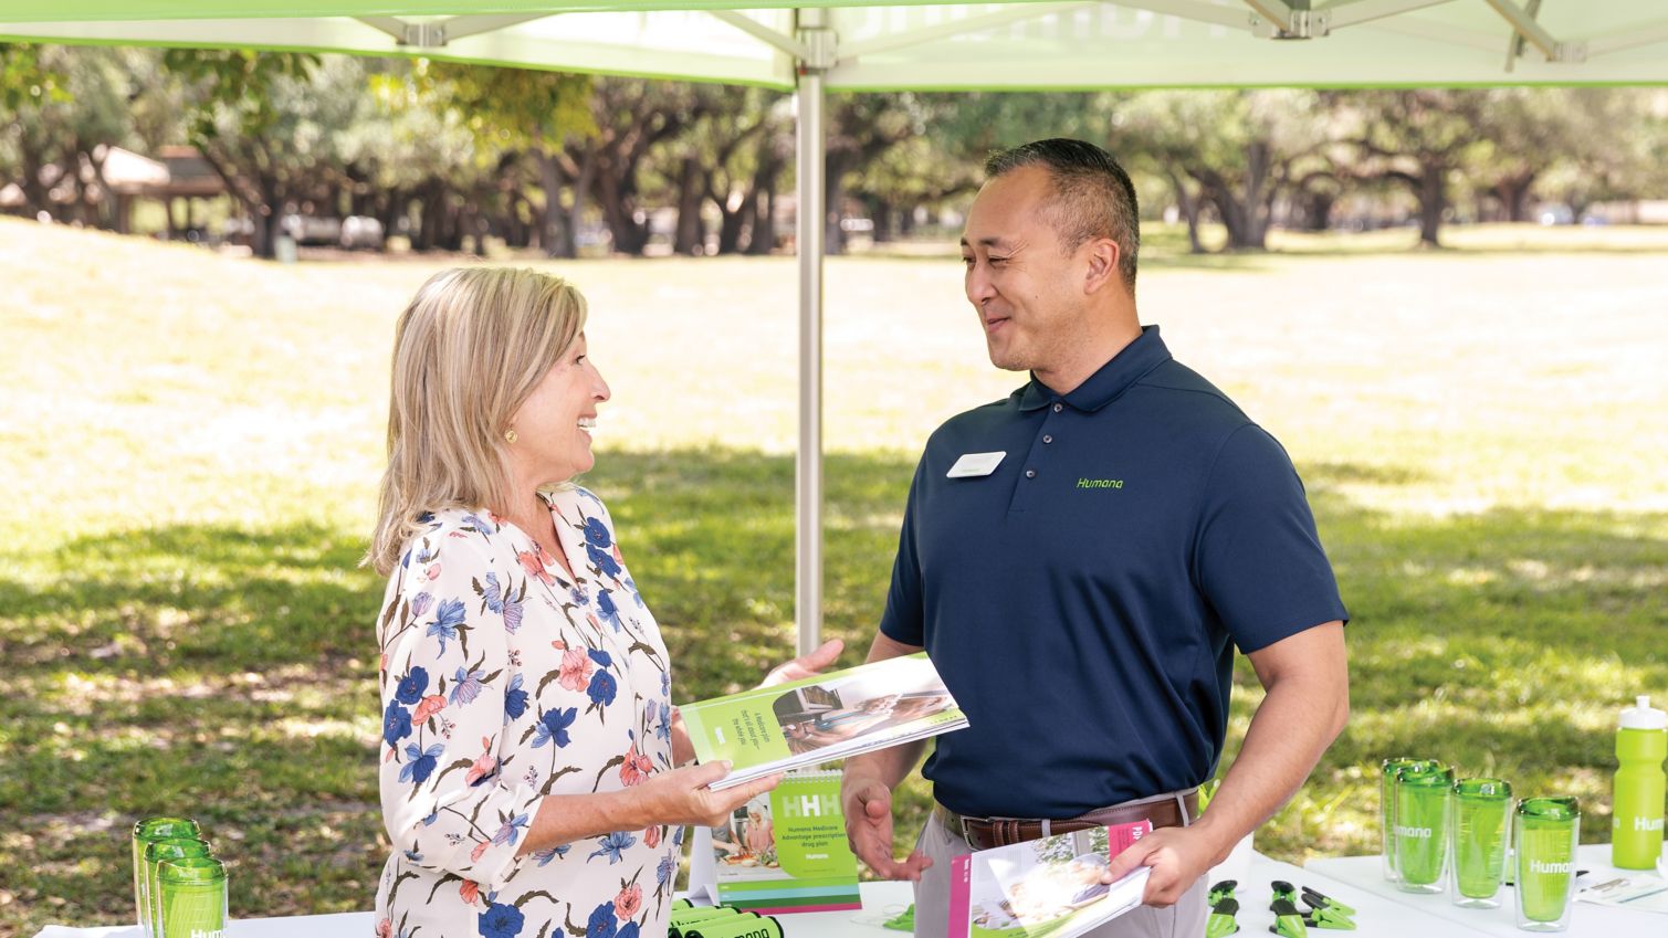
<svg viewBox="0 0 1668 938">
<path fill-rule="evenodd" d="M 544 798 L 500 771 L 514 675 L 502 616 L 480 590 L 495 586 L 489 573 L 482 535 L 445 530 L 417 540 L 394 571 L 380 630 L 380 790 L 407 861 L 495 888 Z"/>
</svg>

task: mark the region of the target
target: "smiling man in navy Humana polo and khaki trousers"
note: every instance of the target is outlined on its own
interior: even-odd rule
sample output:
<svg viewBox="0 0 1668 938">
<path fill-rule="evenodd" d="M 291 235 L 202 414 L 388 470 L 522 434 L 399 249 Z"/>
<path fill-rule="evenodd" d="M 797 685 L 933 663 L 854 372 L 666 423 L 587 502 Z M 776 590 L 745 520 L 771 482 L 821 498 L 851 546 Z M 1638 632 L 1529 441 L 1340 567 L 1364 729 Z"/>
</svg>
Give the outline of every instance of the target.
<svg viewBox="0 0 1668 938">
<path fill-rule="evenodd" d="M 847 835 L 876 873 L 917 881 L 916 935 L 939 938 L 951 858 L 1148 818 L 1108 871 L 1151 866 L 1146 905 L 1091 935 L 1194 938 L 1206 870 L 1348 718 L 1348 613 L 1284 450 L 1139 325 L 1124 170 L 1042 140 L 986 173 L 967 300 L 991 363 L 1031 382 L 927 442 L 869 650 L 924 646 L 971 726 L 922 768 L 937 805 L 914 853 L 894 860 L 891 790 L 924 743 L 846 763 Z M 1234 645 L 1268 695 L 1198 816 Z"/>
</svg>

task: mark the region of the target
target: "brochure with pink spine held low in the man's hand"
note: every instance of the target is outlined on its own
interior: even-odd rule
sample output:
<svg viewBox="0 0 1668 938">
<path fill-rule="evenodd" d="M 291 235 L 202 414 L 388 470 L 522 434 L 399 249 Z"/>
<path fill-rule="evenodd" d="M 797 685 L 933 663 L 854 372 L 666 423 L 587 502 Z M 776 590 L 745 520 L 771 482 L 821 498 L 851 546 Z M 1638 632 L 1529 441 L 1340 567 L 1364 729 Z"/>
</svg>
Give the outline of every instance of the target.
<svg viewBox="0 0 1668 938">
<path fill-rule="evenodd" d="M 1073 938 L 1141 905 L 1151 870 L 1103 883 L 1151 821 L 1089 828 L 951 860 L 949 938 Z"/>
</svg>

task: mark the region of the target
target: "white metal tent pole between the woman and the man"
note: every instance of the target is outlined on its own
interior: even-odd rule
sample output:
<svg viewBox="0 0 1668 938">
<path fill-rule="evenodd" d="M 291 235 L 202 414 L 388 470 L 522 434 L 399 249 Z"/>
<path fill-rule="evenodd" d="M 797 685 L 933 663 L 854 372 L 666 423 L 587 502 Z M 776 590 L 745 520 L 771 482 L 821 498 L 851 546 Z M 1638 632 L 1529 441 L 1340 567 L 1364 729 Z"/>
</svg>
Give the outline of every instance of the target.
<svg viewBox="0 0 1668 938">
<path fill-rule="evenodd" d="M 824 10 L 799 10 L 799 40 L 824 48 Z M 807 42 L 807 38 L 817 42 Z M 799 458 L 794 473 L 794 620 L 799 653 L 817 646 L 822 633 L 822 218 L 824 138 L 822 62 L 801 62 L 794 92 L 799 110 Z"/>
</svg>

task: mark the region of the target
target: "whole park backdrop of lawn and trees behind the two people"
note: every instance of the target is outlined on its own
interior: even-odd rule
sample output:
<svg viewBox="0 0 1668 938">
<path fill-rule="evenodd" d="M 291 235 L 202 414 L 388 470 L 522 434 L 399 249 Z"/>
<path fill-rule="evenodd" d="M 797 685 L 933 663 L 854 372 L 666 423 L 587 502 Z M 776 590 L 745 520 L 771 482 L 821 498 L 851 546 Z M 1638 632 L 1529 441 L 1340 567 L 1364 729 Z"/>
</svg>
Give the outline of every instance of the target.
<svg viewBox="0 0 1668 938">
<path fill-rule="evenodd" d="M 791 653 L 784 98 L 13 45 L 0 103 L 23 215 L 0 218 L 0 936 L 123 921 L 127 828 L 162 811 L 203 821 L 239 916 L 369 908 L 382 585 L 359 558 L 392 322 L 439 268 L 530 263 L 589 297 L 614 400 L 585 483 L 681 663 L 674 696 Z M 959 288 L 979 158 L 1079 135 L 1136 172 L 1143 322 L 1288 447 L 1354 616 L 1351 725 L 1258 848 L 1376 850 L 1374 766 L 1408 753 L 1575 793 L 1585 840 L 1608 840 L 1615 715 L 1668 696 L 1668 228 L 1625 223 L 1668 193 L 1661 92 L 866 93 L 831 113 L 824 633 L 844 663 L 927 433 L 1022 383 Z M 234 193 L 192 223 L 173 203 L 198 243 L 98 230 L 168 232 L 103 168 L 173 145 Z M 375 218 L 382 250 L 254 258 L 292 215 Z M 1243 666 L 1224 768 L 1258 700 Z M 917 780 L 904 831 L 926 805 Z"/>
</svg>

